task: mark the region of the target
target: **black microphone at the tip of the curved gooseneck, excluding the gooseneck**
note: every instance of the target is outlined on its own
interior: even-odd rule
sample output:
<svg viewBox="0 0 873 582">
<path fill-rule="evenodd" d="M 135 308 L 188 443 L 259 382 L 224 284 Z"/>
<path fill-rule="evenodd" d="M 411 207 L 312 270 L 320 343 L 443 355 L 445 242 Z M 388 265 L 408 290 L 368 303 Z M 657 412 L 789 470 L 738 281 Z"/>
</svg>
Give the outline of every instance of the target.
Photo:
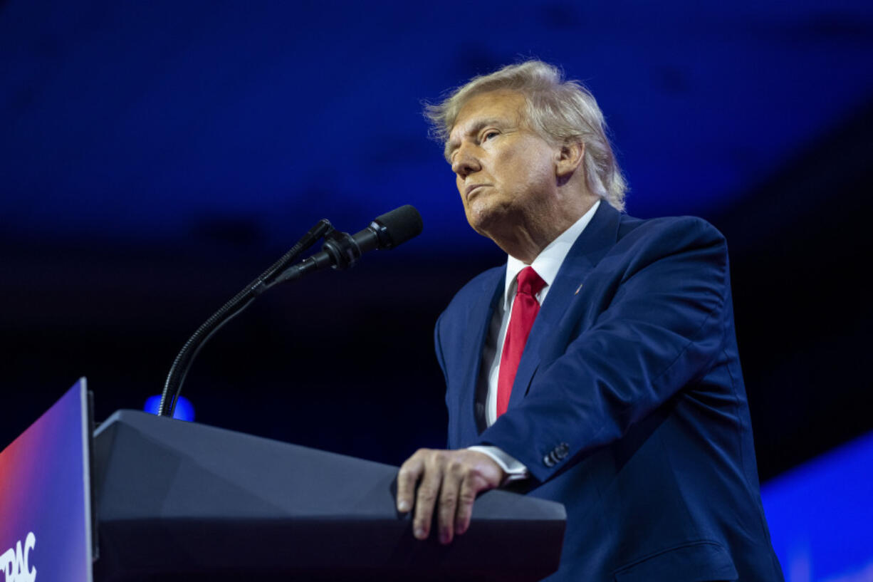
<svg viewBox="0 0 873 582">
<path fill-rule="evenodd" d="M 279 274 L 273 284 L 292 281 L 327 267 L 339 271 L 354 267 L 363 253 L 402 245 L 421 234 L 422 228 L 422 215 L 415 206 L 406 204 L 374 218 L 367 228 L 352 235 L 347 232 L 329 232 L 320 253 L 301 260 Z"/>
</svg>

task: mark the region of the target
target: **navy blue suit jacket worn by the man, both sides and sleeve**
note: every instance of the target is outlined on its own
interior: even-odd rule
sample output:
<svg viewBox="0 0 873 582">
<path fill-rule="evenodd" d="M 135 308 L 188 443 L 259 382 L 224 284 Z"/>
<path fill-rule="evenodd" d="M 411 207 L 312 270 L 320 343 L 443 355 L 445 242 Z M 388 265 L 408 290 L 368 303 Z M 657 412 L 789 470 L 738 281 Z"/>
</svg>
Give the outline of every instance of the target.
<svg viewBox="0 0 873 582">
<path fill-rule="evenodd" d="M 722 235 L 602 203 L 543 301 L 507 412 L 482 431 L 481 355 L 504 278 L 478 275 L 436 323 L 449 447 L 500 447 L 530 469 L 528 495 L 566 506 L 549 580 L 781 580 Z"/>
</svg>

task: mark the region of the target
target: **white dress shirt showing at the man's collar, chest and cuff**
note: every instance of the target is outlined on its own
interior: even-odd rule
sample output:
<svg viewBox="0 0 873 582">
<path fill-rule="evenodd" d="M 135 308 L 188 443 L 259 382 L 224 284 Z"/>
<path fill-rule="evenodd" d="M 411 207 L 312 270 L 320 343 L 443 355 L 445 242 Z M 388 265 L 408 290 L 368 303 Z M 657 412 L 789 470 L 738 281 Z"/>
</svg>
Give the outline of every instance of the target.
<svg viewBox="0 0 873 582">
<path fill-rule="evenodd" d="M 588 212 L 583 214 L 566 231 L 562 232 L 557 239 L 549 243 L 530 264 L 530 267 L 533 267 L 533 270 L 540 275 L 540 278 L 546 281 L 546 286 L 536 295 L 540 305 L 543 304 L 543 301 L 546 301 L 548 290 L 552 287 L 555 277 L 558 276 L 560 266 L 563 264 L 564 259 L 567 258 L 570 247 L 574 245 L 576 239 L 579 238 L 579 235 L 585 230 L 588 223 L 591 222 L 591 218 L 594 217 L 595 211 L 597 211 L 600 204 L 600 200 L 595 202 Z M 510 256 L 506 260 L 503 301 L 499 301 L 494 309 L 494 315 L 491 316 L 491 326 L 488 329 L 488 336 L 485 338 L 485 347 L 482 350 L 482 370 L 488 371 L 488 396 L 485 399 L 485 424 L 487 426 L 491 426 L 497 420 L 497 385 L 500 375 L 500 358 L 503 356 L 506 329 L 509 327 L 512 303 L 515 301 L 515 289 L 518 285 L 515 278 L 518 276 L 519 271 L 525 267 L 527 267 L 526 263 L 515 257 Z M 479 381 L 483 380 L 480 379 Z M 485 453 L 497 462 L 500 468 L 503 468 L 508 475 L 507 481 L 524 479 L 528 476 L 527 468 L 523 464 L 516 461 L 509 454 L 505 454 L 498 447 L 478 446 L 470 447 L 470 449 Z"/>
</svg>

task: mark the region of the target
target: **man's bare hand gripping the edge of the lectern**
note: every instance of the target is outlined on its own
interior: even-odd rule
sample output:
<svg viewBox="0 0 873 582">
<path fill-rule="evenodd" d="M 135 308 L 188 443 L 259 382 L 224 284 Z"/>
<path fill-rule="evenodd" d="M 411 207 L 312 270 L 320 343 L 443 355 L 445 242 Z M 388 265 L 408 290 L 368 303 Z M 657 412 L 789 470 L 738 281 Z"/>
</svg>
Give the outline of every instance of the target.
<svg viewBox="0 0 873 582">
<path fill-rule="evenodd" d="M 455 534 L 463 534 L 470 527 L 476 495 L 498 487 L 505 477 L 505 471 L 485 453 L 420 448 L 397 474 L 397 510 L 408 512 L 415 497 L 413 535 L 427 539 L 438 497 L 439 541 L 449 544 Z"/>
</svg>

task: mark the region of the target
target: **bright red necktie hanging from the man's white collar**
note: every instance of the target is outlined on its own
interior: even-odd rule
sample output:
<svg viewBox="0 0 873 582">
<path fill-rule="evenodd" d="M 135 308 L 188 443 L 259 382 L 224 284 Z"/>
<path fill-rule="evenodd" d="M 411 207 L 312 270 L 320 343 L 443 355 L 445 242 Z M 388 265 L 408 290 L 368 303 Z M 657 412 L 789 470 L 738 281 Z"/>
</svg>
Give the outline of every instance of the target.
<svg viewBox="0 0 873 582">
<path fill-rule="evenodd" d="M 506 412 L 509 396 L 512 394 L 512 383 L 515 373 L 519 371 L 521 353 L 525 350 L 527 336 L 531 335 L 533 320 L 540 313 L 540 303 L 536 294 L 546 287 L 546 281 L 533 270 L 533 267 L 521 269 L 518 275 L 518 288 L 515 291 L 515 302 L 512 303 L 512 314 L 509 317 L 509 327 L 506 329 L 506 339 L 503 343 L 503 354 L 500 356 L 500 372 L 497 381 L 497 416 Z"/>
</svg>

